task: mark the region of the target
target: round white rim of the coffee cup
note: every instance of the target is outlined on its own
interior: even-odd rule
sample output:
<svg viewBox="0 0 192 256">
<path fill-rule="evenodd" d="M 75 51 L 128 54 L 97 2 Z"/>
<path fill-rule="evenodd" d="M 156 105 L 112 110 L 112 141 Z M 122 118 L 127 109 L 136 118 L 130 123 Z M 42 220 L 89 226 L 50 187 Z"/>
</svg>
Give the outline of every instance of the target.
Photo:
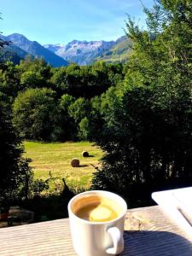
<svg viewBox="0 0 192 256">
<path fill-rule="evenodd" d="M 86 220 L 84 218 L 79 218 L 77 215 L 75 215 L 75 213 L 73 213 L 73 211 L 71 209 L 73 201 L 75 201 L 77 198 L 81 197 L 82 195 L 96 194 L 96 193 L 98 193 L 99 195 L 107 196 L 107 197 L 109 197 L 108 195 L 115 195 L 115 197 L 119 201 L 121 201 L 121 205 L 123 205 L 124 209 L 123 209 L 122 213 L 119 214 L 119 217 L 113 218 L 112 220 L 109 220 L 109 221 L 94 222 L 94 221 Z M 113 200 L 118 201 L 116 199 L 113 199 Z M 74 195 L 73 198 L 68 202 L 67 209 L 68 209 L 68 213 L 71 213 L 74 218 L 79 219 L 79 221 L 81 221 L 81 222 L 83 222 L 85 224 L 110 224 L 110 223 L 118 221 L 120 218 L 123 218 L 125 216 L 125 213 L 127 211 L 127 204 L 126 204 L 125 200 L 120 195 L 117 195 L 117 194 L 115 194 L 113 192 L 110 192 L 110 191 L 107 191 L 107 190 L 88 190 L 88 191 L 79 193 L 78 195 Z"/>
</svg>

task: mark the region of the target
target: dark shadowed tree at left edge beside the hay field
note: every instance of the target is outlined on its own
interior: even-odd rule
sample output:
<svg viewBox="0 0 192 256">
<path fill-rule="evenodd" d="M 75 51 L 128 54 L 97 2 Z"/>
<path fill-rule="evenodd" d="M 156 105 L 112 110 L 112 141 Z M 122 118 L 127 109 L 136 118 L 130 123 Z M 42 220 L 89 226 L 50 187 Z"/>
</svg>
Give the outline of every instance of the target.
<svg viewBox="0 0 192 256">
<path fill-rule="evenodd" d="M 6 201 L 18 195 L 18 189 L 24 186 L 23 177 L 30 170 L 21 158 L 23 148 L 12 125 L 10 107 L 7 96 L 0 93 L 0 198 Z"/>
</svg>

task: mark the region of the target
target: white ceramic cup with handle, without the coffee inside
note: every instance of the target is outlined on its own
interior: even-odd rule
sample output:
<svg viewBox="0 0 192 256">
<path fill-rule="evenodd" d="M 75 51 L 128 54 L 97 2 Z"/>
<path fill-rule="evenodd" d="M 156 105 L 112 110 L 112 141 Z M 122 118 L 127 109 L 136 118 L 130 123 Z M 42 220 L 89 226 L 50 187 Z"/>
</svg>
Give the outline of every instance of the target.
<svg viewBox="0 0 192 256">
<path fill-rule="evenodd" d="M 79 218 L 73 212 L 73 206 L 79 199 L 90 195 L 108 197 L 118 203 L 122 212 L 118 218 L 107 222 L 90 222 Z M 127 205 L 119 195 L 108 191 L 93 190 L 75 195 L 68 203 L 69 221 L 73 247 L 79 256 L 110 256 L 124 249 L 124 221 Z"/>
</svg>

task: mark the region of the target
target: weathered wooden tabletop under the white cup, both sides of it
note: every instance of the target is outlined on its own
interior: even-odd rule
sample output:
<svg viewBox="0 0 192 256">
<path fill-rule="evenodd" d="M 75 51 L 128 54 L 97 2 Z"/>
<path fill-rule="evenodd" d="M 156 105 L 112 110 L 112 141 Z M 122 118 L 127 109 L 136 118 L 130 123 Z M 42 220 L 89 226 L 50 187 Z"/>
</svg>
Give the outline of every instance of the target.
<svg viewBox="0 0 192 256">
<path fill-rule="evenodd" d="M 68 219 L 0 229 L 0 255 L 76 255 Z M 125 251 L 120 255 L 191 256 L 192 237 L 160 207 L 131 209 L 125 220 Z"/>
</svg>

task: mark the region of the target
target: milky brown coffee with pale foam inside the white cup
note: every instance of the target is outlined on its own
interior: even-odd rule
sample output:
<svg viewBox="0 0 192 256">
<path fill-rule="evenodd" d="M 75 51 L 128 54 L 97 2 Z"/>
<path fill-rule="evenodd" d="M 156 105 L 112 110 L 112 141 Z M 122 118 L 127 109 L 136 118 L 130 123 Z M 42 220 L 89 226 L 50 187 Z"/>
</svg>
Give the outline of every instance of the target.
<svg viewBox="0 0 192 256">
<path fill-rule="evenodd" d="M 90 222 L 111 221 L 122 213 L 122 208 L 116 201 L 97 195 L 84 196 L 73 208 L 76 216 Z"/>
</svg>

